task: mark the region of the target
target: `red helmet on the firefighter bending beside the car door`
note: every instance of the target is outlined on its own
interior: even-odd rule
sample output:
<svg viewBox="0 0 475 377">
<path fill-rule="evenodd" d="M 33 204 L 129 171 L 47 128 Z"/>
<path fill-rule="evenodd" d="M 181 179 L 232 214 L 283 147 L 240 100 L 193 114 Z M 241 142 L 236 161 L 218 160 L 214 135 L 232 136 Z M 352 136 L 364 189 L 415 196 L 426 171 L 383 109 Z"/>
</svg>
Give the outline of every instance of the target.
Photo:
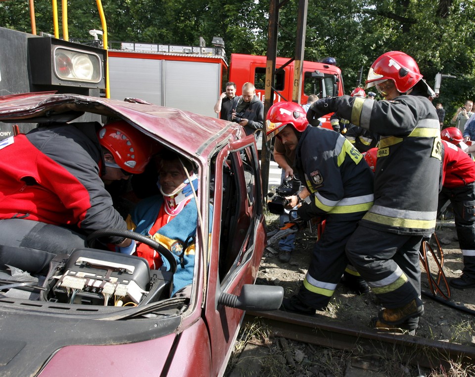
<svg viewBox="0 0 475 377">
<path fill-rule="evenodd" d="M 290 124 L 296 131 L 303 132 L 308 125 L 307 113 L 295 102 L 278 102 L 272 105 L 267 112 L 267 140 L 271 140 L 287 124 Z"/>
</svg>

